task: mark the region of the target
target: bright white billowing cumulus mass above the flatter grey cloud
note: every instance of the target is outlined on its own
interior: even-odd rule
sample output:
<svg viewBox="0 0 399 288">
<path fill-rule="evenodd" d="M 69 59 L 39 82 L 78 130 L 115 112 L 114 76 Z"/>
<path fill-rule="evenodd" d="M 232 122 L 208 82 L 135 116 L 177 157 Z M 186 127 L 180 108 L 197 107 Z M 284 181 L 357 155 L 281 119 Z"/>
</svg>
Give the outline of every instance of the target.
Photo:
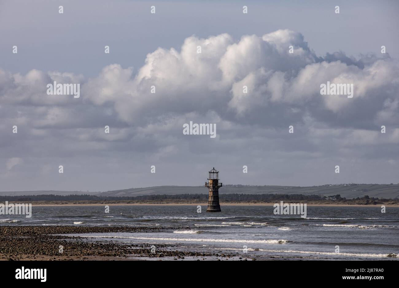
<svg viewBox="0 0 399 288">
<path fill-rule="evenodd" d="M 213 110 L 222 118 L 248 124 L 278 125 L 268 116 L 275 117 L 278 111 L 292 124 L 310 113 L 332 126 L 371 128 L 387 110 L 382 103 L 398 99 L 398 72 L 398 61 L 389 57 L 356 60 L 342 51 L 317 57 L 301 34 L 278 30 L 262 37 L 245 35 L 238 42 L 227 34 L 192 36 L 180 52 L 158 48 L 149 53 L 136 75 L 120 65 L 105 67 L 99 77 L 89 79 L 84 91 L 96 105 L 113 103 L 121 120 L 140 126 L 162 116 Z M 327 81 L 353 83 L 354 98 L 320 95 L 320 84 Z M 243 93 L 244 85 L 248 93 Z M 365 118 L 365 108 L 371 119 L 368 127 L 350 121 Z M 301 112 L 291 113 L 292 109 Z"/>
</svg>

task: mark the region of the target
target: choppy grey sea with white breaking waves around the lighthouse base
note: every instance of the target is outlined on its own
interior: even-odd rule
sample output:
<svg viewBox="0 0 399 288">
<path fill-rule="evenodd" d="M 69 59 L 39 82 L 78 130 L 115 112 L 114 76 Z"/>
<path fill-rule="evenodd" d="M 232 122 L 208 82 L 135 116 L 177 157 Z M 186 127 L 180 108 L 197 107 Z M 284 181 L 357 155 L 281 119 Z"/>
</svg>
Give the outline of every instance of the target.
<svg viewBox="0 0 399 288">
<path fill-rule="evenodd" d="M 150 233 L 88 233 L 83 241 L 169 244 L 173 250 L 239 253 L 243 257 L 398 260 L 399 208 L 308 206 L 307 217 L 274 215 L 273 206 L 195 205 L 32 207 L 32 217 L 0 215 L 0 225 L 168 227 Z M 182 229 L 184 227 L 184 229 Z M 339 246 L 339 252 L 336 246 Z M 302 257 L 302 258 L 300 258 Z"/>
</svg>

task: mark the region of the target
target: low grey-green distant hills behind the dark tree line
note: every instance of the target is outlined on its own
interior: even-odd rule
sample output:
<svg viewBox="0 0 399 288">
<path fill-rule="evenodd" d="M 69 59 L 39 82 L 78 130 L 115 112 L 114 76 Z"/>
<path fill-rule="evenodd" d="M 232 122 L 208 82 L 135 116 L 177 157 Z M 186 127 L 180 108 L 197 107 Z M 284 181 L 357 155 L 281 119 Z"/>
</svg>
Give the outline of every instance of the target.
<svg viewBox="0 0 399 288">
<path fill-rule="evenodd" d="M 204 186 L 154 186 L 144 188 L 130 188 L 122 190 L 113 190 L 107 192 L 84 192 L 84 191 L 4 191 L 0 195 L 99 195 L 99 196 L 124 196 L 134 197 L 142 195 L 176 195 L 176 194 L 204 194 L 208 189 Z M 332 196 L 340 194 L 341 197 L 348 199 L 369 197 L 395 199 L 399 198 L 398 184 L 341 184 L 341 185 L 322 185 L 322 186 L 252 186 L 252 185 L 224 185 L 220 190 L 220 194 L 302 194 L 302 195 L 319 195 Z"/>
</svg>

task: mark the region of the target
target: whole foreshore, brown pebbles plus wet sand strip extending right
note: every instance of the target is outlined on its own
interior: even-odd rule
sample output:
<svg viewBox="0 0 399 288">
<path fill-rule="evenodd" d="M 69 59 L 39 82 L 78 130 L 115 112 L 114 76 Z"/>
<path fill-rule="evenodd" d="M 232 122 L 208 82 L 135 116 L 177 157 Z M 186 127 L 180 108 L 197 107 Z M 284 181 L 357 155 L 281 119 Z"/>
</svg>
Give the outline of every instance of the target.
<svg viewBox="0 0 399 288">
<path fill-rule="evenodd" d="M 292 255 L 284 254 L 285 251 L 276 251 L 280 253 L 273 254 L 269 253 L 273 252 L 270 250 L 259 255 L 254 253 L 259 251 L 256 249 L 248 254 L 242 252 L 241 248 L 182 249 L 179 243 L 154 243 L 154 241 L 123 243 L 118 239 L 103 242 L 86 236 L 71 235 L 110 232 L 134 235 L 138 232 L 175 229 L 190 229 L 190 227 L 0 226 L 0 260 L 338 260 L 329 255 L 313 257 L 312 254 L 317 252 Z M 396 258 L 397 254 L 390 252 L 376 260 L 396 260 Z"/>
</svg>

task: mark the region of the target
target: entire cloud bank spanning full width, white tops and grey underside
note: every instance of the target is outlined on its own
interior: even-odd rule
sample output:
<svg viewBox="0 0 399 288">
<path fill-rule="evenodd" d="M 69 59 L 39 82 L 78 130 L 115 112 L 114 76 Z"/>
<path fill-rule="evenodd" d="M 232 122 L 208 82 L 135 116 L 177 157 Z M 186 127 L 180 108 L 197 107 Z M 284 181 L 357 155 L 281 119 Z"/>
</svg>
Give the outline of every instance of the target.
<svg viewBox="0 0 399 288">
<path fill-rule="evenodd" d="M 294 53 L 288 51 L 291 45 Z M 47 95 L 46 85 L 53 81 L 80 83 L 81 97 Z M 320 84 L 327 81 L 353 83 L 354 97 L 320 95 Z M 179 49 L 148 53 L 137 70 L 111 64 L 90 78 L 0 69 L 0 103 L 0 132 L 7 135 L 0 138 L 0 158 L 6 170 L 22 164 L 22 158 L 30 171 L 40 165 L 38 171 L 46 172 L 41 174 L 51 174 L 59 163 L 77 173 L 79 167 L 95 163 L 95 171 L 107 163 L 104 169 L 112 167 L 109 173 L 127 179 L 138 163 L 197 166 L 207 155 L 227 163 L 226 169 L 250 163 L 259 177 L 270 162 L 276 167 L 273 177 L 281 179 L 288 163 L 300 170 L 312 160 L 318 172 L 326 162 L 356 158 L 395 164 L 398 156 L 398 60 L 372 54 L 356 59 L 343 51 L 319 57 L 291 30 L 241 39 L 191 36 Z M 217 137 L 183 135 L 182 125 L 190 120 L 216 123 Z M 18 134 L 11 133 L 13 125 Z M 288 134 L 290 125 L 294 134 Z M 157 175 L 161 171 L 157 168 Z"/>
</svg>

